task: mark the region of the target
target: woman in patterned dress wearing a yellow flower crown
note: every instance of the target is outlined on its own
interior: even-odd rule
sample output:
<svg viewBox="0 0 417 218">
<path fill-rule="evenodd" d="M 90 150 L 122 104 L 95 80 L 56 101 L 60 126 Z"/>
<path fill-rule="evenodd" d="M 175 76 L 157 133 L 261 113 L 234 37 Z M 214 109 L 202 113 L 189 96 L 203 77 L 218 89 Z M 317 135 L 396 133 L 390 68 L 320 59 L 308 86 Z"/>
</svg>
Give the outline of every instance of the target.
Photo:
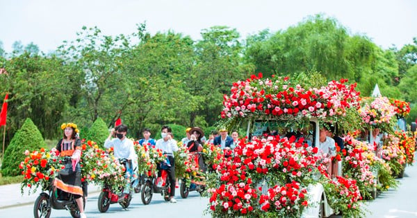
<svg viewBox="0 0 417 218">
<path fill-rule="evenodd" d="M 56 149 L 60 152 L 60 156 L 67 156 L 63 161 L 65 168 L 60 170 L 58 176 L 54 180 L 54 186 L 63 192 L 74 194 L 76 204 L 80 210 L 80 217 L 85 218 L 83 207 L 83 188 L 81 185 L 81 140 L 76 136 L 79 133 L 76 124 L 72 122 L 63 123 L 63 138 L 56 145 Z"/>
</svg>

